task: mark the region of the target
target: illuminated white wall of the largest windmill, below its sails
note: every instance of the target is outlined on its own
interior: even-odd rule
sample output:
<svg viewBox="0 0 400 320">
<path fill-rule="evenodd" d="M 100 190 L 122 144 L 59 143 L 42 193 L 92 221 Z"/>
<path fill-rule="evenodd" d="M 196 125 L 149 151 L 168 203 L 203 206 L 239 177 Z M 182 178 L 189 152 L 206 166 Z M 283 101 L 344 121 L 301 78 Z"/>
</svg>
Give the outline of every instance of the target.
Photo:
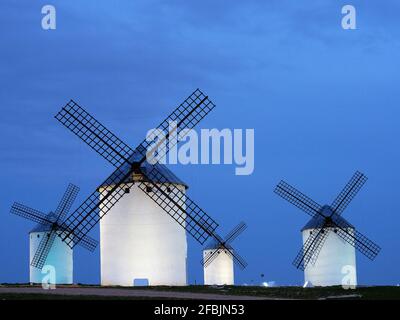
<svg viewBox="0 0 400 320">
<path fill-rule="evenodd" d="M 176 185 L 183 192 L 185 188 Z M 101 284 L 187 285 L 186 231 L 137 185 L 100 220 Z"/>
</svg>

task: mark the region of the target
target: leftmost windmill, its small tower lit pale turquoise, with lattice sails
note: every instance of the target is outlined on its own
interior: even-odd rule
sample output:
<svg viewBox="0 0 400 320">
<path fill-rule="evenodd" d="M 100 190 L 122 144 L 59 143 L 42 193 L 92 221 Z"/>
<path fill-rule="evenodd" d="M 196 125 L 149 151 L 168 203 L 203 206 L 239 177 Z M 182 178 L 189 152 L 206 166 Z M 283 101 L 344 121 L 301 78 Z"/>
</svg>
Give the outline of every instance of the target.
<svg viewBox="0 0 400 320">
<path fill-rule="evenodd" d="M 45 214 L 41 211 L 29 208 L 20 203 L 14 203 L 11 213 L 29 219 L 37 223 L 37 226 L 29 233 L 30 245 L 30 282 L 41 283 L 43 266 L 51 265 L 56 271 L 56 284 L 71 284 L 73 281 L 73 254 L 72 249 L 62 242 L 57 235 L 70 232 L 70 228 L 64 223 L 79 188 L 69 184 L 56 210 Z M 74 238 L 74 234 L 71 234 Z M 84 236 L 79 244 L 93 251 L 97 241 Z"/>
</svg>

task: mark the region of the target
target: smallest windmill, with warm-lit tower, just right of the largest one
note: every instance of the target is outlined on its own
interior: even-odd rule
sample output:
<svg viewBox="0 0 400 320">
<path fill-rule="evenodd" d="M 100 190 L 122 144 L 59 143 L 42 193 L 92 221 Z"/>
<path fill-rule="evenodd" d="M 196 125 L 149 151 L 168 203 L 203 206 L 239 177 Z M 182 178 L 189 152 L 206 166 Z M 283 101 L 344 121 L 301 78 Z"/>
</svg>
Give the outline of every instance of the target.
<svg viewBox="0 0 400 320">
<path fill-rule="evenodd" d="M 234 285 L 235 276 L 233 262 L 240 268 L 247 266 L 246 261 L 237 253 L 234 253 L 231 243 L 245 229 L 247 225 L 244 222 L 239 223 L 229 232 L 225 238 L 214 235 L 210 243 L 203 251 L 202 264 L 204 266 L 204 284 L 205 285 Z"/>
</svg>

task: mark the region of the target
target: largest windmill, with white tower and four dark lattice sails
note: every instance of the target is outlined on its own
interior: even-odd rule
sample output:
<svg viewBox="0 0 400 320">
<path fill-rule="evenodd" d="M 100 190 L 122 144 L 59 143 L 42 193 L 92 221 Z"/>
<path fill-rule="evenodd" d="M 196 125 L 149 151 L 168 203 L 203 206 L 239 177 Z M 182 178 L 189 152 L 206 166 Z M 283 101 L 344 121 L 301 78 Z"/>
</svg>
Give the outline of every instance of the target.
<svg viewBox="0 0 400 320">
<path fill-rule="evenodd" d="M 159 131 L 167 132 L 163 139 L 157 143 L 145 139 L 135 149 L 73 100 L 55 116 L 116 167 L 67 219 L 67 224 L 71 225 L 70 233 L 61 235 L 72 248 L 101 220 L 102 284 L 128 286 L 132 282 L 146 283 L 146 280 L 152 285 L 186 284 L 185 230 L 204 244 L 214 237 L 218 223 L 186 195 L 187 186 L 171 171 L 159 163 L 150 164 L 152 161 L 148 160 L 154 159 L 156 151 L 166 154 L 177 143 L 169 137 L 179 129 L 194 128 L 214 107 L 208 96 L 195 90 L 157 127 Z M 176 124 L 172 129 L 171 123 Z M 152 206 L 149 200 L 153 202 Z M 113 214 L 105 217 L 111 210 Z M 178 224 L 166 220 L 168 216 L 161 215 L 160 211 Z M 152 225 L 151 230 L 146 223 Z M 113 230 L 113 225 L 119 227 Z M 179 225 L 183 227 L 180 232 L 177 231 Z M 123 230 L 118 231 L 119 228 Z M 71 235 L 78 240 L 74 241 Z M 236 256 L 235 253 L 232 255 Z"/>
</svg>

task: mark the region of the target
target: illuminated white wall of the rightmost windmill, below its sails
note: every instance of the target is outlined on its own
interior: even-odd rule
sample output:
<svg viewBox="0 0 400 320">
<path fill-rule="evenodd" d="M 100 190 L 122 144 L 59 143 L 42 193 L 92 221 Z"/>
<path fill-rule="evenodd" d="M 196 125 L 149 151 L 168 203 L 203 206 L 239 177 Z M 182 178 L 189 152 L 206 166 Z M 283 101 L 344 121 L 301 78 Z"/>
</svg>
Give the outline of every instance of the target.
<svg viewBox="0 0 400 320">
<path fill-rule="evenodd" d="M 353 232 L 353 229 L 348 229 Z M 310 231 L 304 230 L 303 244 L 307 241 Z M 309 263 L 304 271 L 305 282 L 313 286 L 357 285 L 355 248 L 342 240 L 333 230 L 329 232 L 315 265 Z"/>
</svg>

